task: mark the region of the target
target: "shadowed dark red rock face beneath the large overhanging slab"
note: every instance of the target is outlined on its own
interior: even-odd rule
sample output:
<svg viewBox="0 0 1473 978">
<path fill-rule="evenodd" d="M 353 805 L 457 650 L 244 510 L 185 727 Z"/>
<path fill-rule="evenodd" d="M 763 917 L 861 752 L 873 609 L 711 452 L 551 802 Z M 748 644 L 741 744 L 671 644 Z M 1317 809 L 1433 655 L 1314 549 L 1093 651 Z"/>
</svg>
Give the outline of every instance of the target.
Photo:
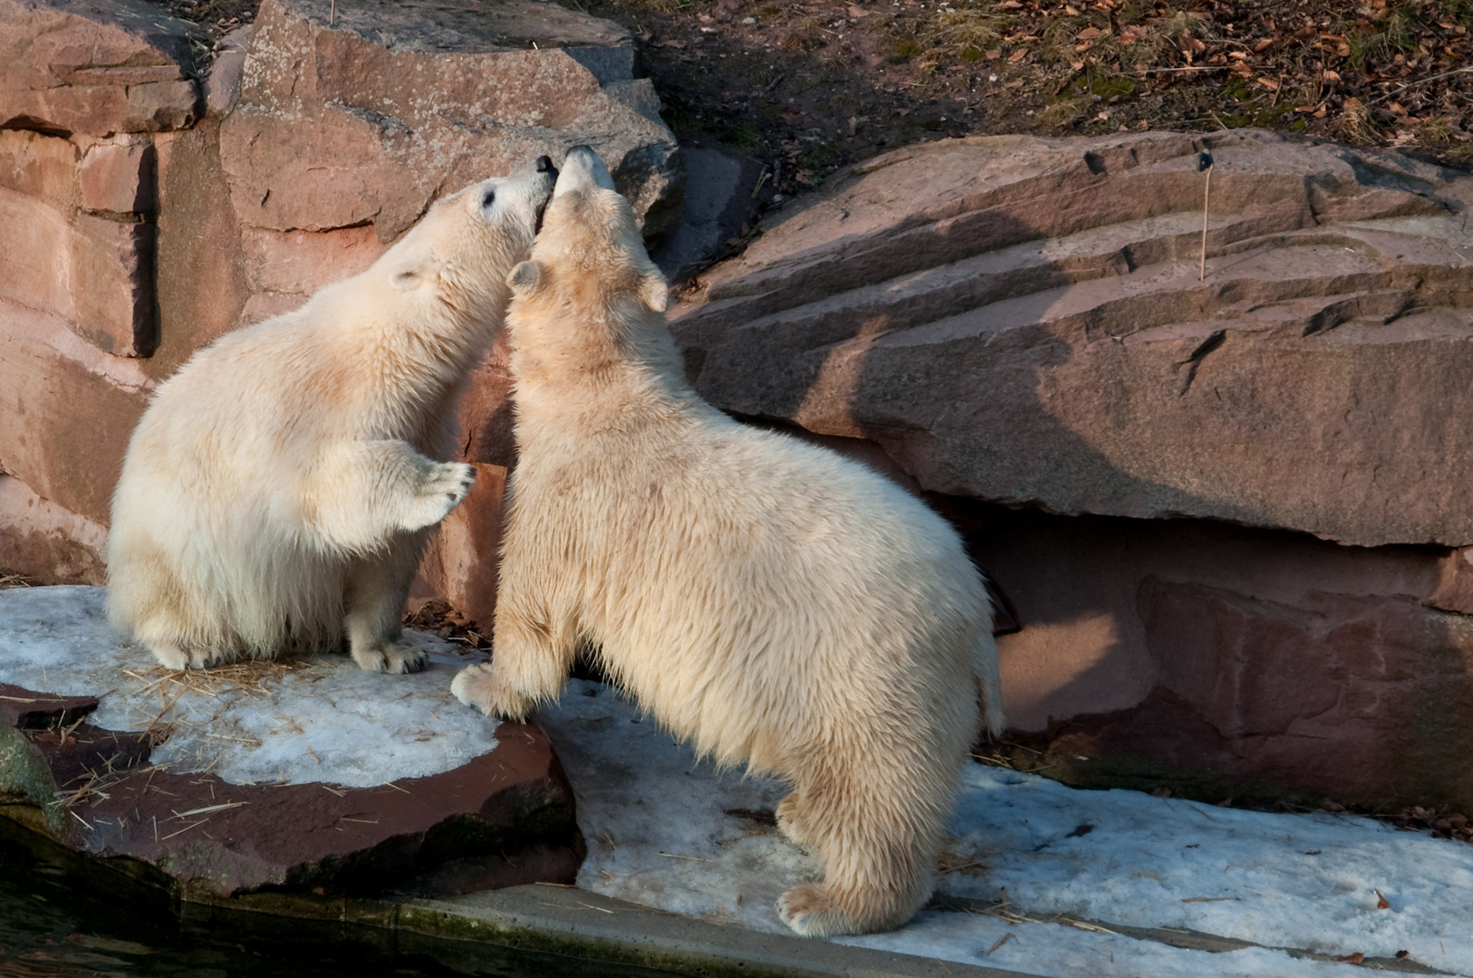
<svg viewBox="0 0 1473 978">
<path fill-rule="evenodd" d="M 1432 607 L 1461 555 L 1002 507 L 968 541 L 1022 623 L 1005 711 L 1043 773 L 1473 804 L 1473 627 Z"/>
</svg>

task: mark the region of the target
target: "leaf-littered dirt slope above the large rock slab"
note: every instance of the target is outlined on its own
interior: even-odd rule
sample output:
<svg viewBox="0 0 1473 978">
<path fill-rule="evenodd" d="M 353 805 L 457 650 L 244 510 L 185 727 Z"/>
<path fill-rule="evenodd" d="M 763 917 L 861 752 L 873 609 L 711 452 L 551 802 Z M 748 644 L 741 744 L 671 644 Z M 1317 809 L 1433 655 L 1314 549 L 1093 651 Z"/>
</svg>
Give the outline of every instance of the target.
<svg viewBox="0 0 1473 978">
<path fill-rule="evenodd" d="M 1473 3 L 563 0 L 625 24 L 683 140 L 778 189 L 925 138 L 1243 125 L 1473 158 Z"/>
</svg>

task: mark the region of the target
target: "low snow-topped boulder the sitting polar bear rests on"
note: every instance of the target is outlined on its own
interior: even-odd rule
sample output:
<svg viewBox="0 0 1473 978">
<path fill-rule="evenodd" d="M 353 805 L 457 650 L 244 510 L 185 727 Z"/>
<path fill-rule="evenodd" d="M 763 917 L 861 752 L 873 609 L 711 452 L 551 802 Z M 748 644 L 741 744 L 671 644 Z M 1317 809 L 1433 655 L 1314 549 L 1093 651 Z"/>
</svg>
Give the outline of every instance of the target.
<svg viewBox="0 0 1473 978">
<path fill-rule="evenodd" d="M 97 588 L 0 591 L 0 804 L 186 896 L 572 882 L 546 738 L 455 703 L 463 655 L 421 641 L 414 676 L 346 655 L 174 673 L 119 641 Z"/>
</svg>

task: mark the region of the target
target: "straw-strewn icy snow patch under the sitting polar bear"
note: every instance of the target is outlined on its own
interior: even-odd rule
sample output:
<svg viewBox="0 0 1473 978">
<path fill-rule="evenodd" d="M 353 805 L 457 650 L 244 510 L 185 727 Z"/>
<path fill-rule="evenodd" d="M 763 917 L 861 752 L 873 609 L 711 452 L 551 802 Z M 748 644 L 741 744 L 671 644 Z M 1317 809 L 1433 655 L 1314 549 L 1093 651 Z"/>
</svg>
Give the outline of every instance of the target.
<svg viewBox="0 0 1473 978">
<path fill-rule="evenodd" d="M 370 788 L 454 770 L 496 747 L 496 722 L 451 695 L 465 664 L 455 647 L 408 635 L 430 657 L 409 676 L 323 655 L 264 670 L 259 683 L 219 682 L 202 670 L 196 689 L 155 682 L 164 673 L 153 657 L 108 625 L 102 588 L 10 588 L 0 591 L 0 682 L 99 697 L 88 722 L 106 729 L 169 725 L 150 760 L 174 773 Z"/>
</svg>

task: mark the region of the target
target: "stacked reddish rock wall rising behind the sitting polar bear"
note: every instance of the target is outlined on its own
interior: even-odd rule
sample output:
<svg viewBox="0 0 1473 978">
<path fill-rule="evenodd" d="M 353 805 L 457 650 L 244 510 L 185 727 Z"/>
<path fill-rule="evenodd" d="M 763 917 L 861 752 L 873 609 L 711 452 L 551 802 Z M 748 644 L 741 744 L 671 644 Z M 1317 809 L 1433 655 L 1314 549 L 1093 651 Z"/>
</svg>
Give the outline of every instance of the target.
<svg viewBox="0 0 1473 978">
<path fill-rule="evenodd" d="M 0 0 L 6 570 L 100 583 L 153 386 L 368 267 L 436 196 L 588 143 L 647 231 L 679 209 L 679 147 L 613 22 L 532 0 L 267 0 L 209 60 L 193 29 L 141 0 Z M 488 367 L 474 404 L 505 414 Z M 439 580 L 493 548 L 436 560 Z"/>
</svg>

